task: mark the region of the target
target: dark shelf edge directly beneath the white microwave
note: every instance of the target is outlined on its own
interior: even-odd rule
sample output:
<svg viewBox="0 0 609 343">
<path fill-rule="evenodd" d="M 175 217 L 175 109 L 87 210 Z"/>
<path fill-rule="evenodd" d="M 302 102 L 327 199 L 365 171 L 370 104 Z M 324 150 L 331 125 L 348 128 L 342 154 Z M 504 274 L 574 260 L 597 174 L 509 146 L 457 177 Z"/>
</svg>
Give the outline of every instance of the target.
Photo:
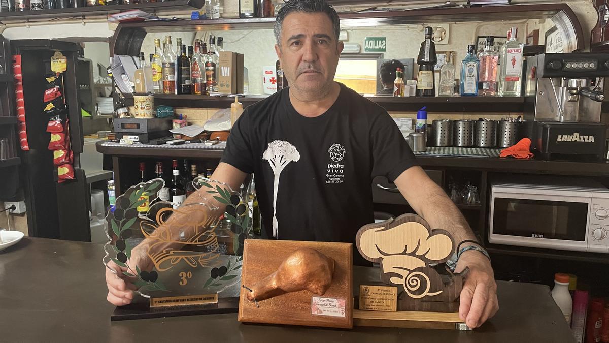
<svg viewBox="0 0 609 343">
<path fill-rule="evenodd" d="M 485 245 L 485 249 L 491 254 L 529 256 L 533 258 L 564 259 L 569 261 L 609 264 L 609 258 L 607 258 L 607 254 L 604 253 L 515 247 L 513 245 L 502 244 L 487 244 Z"/>
</svg>

